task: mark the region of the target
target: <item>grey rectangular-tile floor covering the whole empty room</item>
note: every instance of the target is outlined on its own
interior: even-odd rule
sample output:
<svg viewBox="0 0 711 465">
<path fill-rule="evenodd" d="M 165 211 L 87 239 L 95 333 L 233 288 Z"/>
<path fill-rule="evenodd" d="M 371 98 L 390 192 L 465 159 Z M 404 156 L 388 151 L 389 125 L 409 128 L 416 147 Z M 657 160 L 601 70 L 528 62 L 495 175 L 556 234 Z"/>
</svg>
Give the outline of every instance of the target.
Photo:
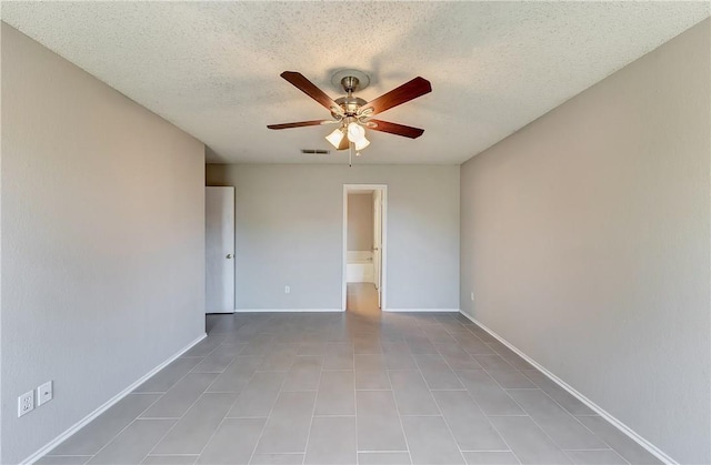
<svg viewBox="0 0 711 465">
<path fill-rule="evenodd" d="M 209 315 L 38 463 L 659 463 L 462 315 L 381 314 L 363 291 L 344 314 Z"/>
</svg>

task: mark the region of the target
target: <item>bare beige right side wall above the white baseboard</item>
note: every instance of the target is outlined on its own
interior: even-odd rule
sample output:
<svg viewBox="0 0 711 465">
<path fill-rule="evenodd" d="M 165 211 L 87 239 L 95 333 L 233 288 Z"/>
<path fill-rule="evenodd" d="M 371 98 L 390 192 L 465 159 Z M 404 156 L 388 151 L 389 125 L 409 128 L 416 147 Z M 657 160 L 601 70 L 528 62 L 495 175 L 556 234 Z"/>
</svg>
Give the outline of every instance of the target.
<svg viewBox="0 0 711 465">
<path fill-rule="evenodd" d="M 680 463 L 711 463 L 710 24 L 461 171 L 462 309 Z"/>
</svg>

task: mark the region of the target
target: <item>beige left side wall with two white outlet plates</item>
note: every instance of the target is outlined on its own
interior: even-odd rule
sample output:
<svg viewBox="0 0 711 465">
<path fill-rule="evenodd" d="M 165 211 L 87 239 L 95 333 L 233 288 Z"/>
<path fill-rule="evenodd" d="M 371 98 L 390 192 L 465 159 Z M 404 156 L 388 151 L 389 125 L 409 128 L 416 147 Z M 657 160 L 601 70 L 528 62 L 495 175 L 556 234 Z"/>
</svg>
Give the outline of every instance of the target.
<svg viewBox="0 0 711 465">
<path fill-rule="evenodd" d="M 2 26 L 2 457 L 204 334 L 204 148 Z M 21 418 L 17 398 L 54 381 Z"/>
</svg>

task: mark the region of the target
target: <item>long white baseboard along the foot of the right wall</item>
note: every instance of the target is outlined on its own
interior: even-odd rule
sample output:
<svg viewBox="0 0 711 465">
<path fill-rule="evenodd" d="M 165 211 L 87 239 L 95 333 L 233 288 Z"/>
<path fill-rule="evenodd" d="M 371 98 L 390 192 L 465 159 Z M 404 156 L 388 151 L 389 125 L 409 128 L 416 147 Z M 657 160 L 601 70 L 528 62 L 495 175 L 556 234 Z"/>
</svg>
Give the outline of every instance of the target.
<svg viewBox="0 0 711 465">
<path fill-rule="evenodd" d="M 610 422 L 612 424 L 612 426 L 614 426 L 618 429 L 620 429 L 630 439 L 634 441 L 637 444 L 639 444 L 640 446 L 644 447 L 644 449 L 647 449 L 650 454 L 654 455 L 657 458 L 659 458 L 660 461 L 662 461 L 665 464 L 679 465 L 679 463 L 677 461 L 671 458 L 669 455 L 664 454 L 662 451 L 659 449 L 659 447 L 657 447 L 655 445 L 653 445 L 652 443 L 650 443 L 649 441 L 647 441 L 645 438 L 643 438 L 642 436 L 637 434 L 632 428 L 630 428 L 624 423 L 620 422 L 618 418 L 612 416 L 610 413 L 608 413 L 601 406 L 599 406 L 598 404 L 595 404 L 594 402 L 592 402 L 591 400 L 589 400 L 588 397 L 585 397 L 584 395 L 582 395 L 581 393 L 575 391 L 572 386 L 570 386 L 563 380 L 559 378 L 553 373 L 549 372 L 543 365 L 541 365 L 540 363 L 538 363 L 537 361 L 534 361 L 530 356 L 525 355 L 523 352 L 519 351 L 509 341 L 504 340 L 499 334 L 494 333 L 493 331 L 491 331 L 490 328 L 484 326 L 481 322 L 479 322 L 477 319 L 474 319 L 473 316 L 467 314 L 465 312 L 460 311 L 460 313 L 462 315 L 464 315 L 467 319 L 471 320 L 474 324 L 477 324 L 479 327 L 484 330 L 487 333 L 489 333 L 492 337 L 494 337 L 501 344 L 505 345 L 507 347 L 509 347 L 510 350 L 515 352 L 521 358 L 525 360 L 528 363 L 533 365 L 539 372 L 541 372 L 545 376 L 548 376 L 553 383 L 558 384 L 560 387 L 562 387 L 563 390 L 568 391 L 568 393 L 570 393 L 572 396 L 574 396 L 580 402 L 585 404 L 594 413 L 597 413 L 598 415 L 600 415 L 601 417 L 603 417 L 604 419 Z"/>
</svg>

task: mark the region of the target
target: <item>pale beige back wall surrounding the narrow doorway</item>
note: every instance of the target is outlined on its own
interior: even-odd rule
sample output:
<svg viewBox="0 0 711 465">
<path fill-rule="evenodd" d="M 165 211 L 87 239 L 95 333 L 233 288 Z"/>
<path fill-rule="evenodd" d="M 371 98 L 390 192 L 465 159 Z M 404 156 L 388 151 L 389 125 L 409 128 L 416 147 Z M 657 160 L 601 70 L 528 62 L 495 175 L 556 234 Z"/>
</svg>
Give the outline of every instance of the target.
<svg viewBox="0 0 711 465">
<path fill-rule="evenodd" d="M 207 181 L 236 186 L 237 309 L 342 307 L 343 184 L 388 185 L 387 307 L 459 307 L 458 165 L 210 164 Z"/>
</svg>

